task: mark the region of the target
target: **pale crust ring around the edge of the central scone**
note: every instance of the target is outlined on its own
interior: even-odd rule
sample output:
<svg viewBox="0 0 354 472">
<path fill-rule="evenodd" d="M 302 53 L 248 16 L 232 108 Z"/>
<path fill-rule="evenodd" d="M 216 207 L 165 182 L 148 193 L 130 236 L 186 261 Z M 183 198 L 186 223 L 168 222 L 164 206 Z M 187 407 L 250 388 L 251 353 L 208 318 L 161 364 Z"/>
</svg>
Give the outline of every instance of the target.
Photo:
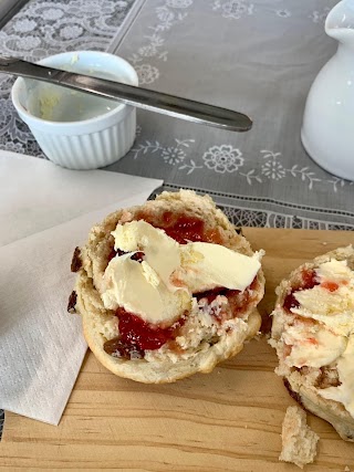
<svg viewBox="0 0 354 472">
<path fill-rule="evenodd" d="M 206 229 L 212 231 L 218 228 L 225 247 L 247 255 L 253 254 L 249 242 L 237 233 L 235 227 L 216 208 L 214 201 L 208 196 L 199 197 L 189 190 L 163 192 L 156 200 L 148 201 L 142 207 L 111 213 L 101 224 L 92 228 L 87 243 L 80 249 L 81 266 L 75 285 L 77 295 L 75 308 L 82 315 L 84 336 L 95 357 L 108 370 L 119 377 L 146 384 L 171 382 L 198 371 L 211 371 L 218 363 L 238 354 L 244 342 L 257 335 L 261 324 L 261 317 L 256 308 L 264 292 L 264 276 L 260 270 L 257 289 L 253 291 L 253 301 L 244 314 L 247 328 L 240 332 L 233 329 L 231 335 L 223 336 L 207 350 L 196 353 L 191 359 L 126 360 L 113 357 L 104 350 L 103 345 L 106 338 L 101 333 L 104 332 L 104 325 L 110 324 L 115 315 L 114 312 L 104 308 L 97 289 L 102 284 L 113 244 L 111 231 L 117 223 L 132 221 L 142 212 L 154 221 L 166 211 L 199 217 L 205 221 Z"/>
</svg>

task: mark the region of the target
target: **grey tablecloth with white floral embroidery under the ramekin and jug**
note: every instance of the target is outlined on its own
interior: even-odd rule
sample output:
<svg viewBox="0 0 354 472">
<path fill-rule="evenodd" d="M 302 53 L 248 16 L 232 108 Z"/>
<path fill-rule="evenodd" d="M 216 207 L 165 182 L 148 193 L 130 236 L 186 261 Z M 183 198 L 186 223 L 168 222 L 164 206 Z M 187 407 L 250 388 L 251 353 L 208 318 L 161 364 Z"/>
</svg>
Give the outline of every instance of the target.
<svg viewBox="0 0 354 472">
<path fill-rule="evenodd" d="M 136 67 L 144 87 L 254 118 L 251 132 L 232 134 L 139 112 L 133 149 L 107 170 L 207 192 L 237 225 L 353 230 L 353 182 L 322 170 L 300 141 L 306 94 L 336 50 L 324 33 L 335 3 L 31 0 L 1 28 L 0 44 L 29 61 L 111 51 Z M 13 109 L 12 83 L 0 74 L 0 149 L 44 158 Z"/>
</svg>

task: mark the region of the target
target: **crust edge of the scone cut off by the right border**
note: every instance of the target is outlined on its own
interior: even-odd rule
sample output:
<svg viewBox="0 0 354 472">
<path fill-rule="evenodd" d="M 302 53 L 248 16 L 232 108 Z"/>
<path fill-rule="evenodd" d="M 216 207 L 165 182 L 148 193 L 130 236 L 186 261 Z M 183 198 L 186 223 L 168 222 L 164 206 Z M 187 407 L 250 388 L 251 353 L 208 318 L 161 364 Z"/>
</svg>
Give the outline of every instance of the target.
<svg viewBox="0 0 354 472">
<path fill-rule="evenodd" d="M 348 266 L 354 270 L 354 250 L 352 245 L 345 248 L 339 248 L 334 251 L 330 251 L 322 254 L 313 260 L 300 265 L 294 270 L 289 279 L 283 280 L 277 287 L 277 301 L 275 310 L 273 312 L 273 322 L 271 331 L 271 344 L 280 343 L 280 337 L 283 331 L 283 321 L 281 316 L 280 306 L 283 305 L 287 294 L 292 286 L 301 280 L 301 273 L 303 270 L 311 270 L 317 268 L 320 264 L 330 261 L 331 259 L 339 261 L 346 260 Z M 316 415 L 317 417 L 330 422 L 333 428 L 337 431 L 340 437 L 345 441 L 354 442 L 354 418 L 348 413 L 344 406 L 337 401 L 329 400 L 321 397 L 317 394 L 315 386 L 311 385 L 311 381 L 306 379 L 306 376 L 301 374 L 299 370 L 293 370 L 283 376 L 284 385 L 289 390 L 290 395 L 306 410 Z"/>
</svg>

